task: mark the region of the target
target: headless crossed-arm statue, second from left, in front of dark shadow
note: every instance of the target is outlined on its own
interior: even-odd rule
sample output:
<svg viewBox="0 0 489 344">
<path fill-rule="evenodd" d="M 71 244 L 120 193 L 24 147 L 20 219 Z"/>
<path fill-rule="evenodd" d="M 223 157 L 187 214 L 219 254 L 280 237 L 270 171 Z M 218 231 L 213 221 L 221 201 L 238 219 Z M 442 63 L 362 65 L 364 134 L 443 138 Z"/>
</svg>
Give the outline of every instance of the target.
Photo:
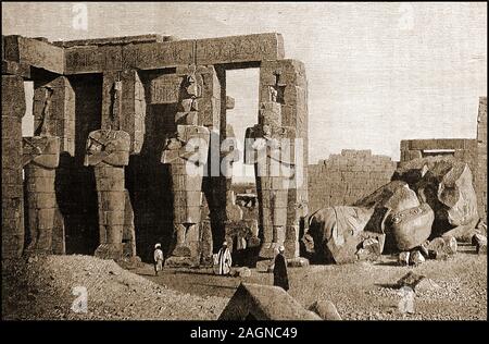
<svg viewBox="0 0 489 344">
<path fill-rule="evenodd" d="M 121 259 L 126 209 L 124 167 L 129 163 L 129 134 L 123 131 L 91 132 L 87 140 L 85 165 L 92 165 L 99 202 L 100 245 L 95 255 Z"/>
</svg>

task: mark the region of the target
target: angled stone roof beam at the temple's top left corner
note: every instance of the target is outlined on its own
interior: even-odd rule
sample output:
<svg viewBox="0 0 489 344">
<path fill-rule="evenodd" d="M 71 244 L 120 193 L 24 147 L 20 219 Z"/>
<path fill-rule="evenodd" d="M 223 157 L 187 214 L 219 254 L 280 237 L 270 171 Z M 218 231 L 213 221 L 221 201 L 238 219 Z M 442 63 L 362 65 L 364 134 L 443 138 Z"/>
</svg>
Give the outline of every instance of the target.
<svg viewBox="0 0 489 344">
<path fill-rule="evenodd" d="M 3 59 L 43 69 L 57 74 L 64 73 L 64 51 L 52 44 L 22 36 L 2 36 Z"/>
</svg>

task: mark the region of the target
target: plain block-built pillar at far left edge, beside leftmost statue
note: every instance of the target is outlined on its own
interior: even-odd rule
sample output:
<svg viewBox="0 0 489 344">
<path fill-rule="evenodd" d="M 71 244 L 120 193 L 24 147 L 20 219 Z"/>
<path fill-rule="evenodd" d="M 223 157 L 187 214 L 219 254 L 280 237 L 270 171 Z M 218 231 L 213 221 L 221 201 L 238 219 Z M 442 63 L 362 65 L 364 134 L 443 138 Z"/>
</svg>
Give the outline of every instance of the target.
<svg viewBox="0 0 489 344">
<path fill-rule="evenodd" d="M 2 259 L 17 258 L 24 249 L 22 118 L 24 81 L 2 75 Z"/>
</svg>

